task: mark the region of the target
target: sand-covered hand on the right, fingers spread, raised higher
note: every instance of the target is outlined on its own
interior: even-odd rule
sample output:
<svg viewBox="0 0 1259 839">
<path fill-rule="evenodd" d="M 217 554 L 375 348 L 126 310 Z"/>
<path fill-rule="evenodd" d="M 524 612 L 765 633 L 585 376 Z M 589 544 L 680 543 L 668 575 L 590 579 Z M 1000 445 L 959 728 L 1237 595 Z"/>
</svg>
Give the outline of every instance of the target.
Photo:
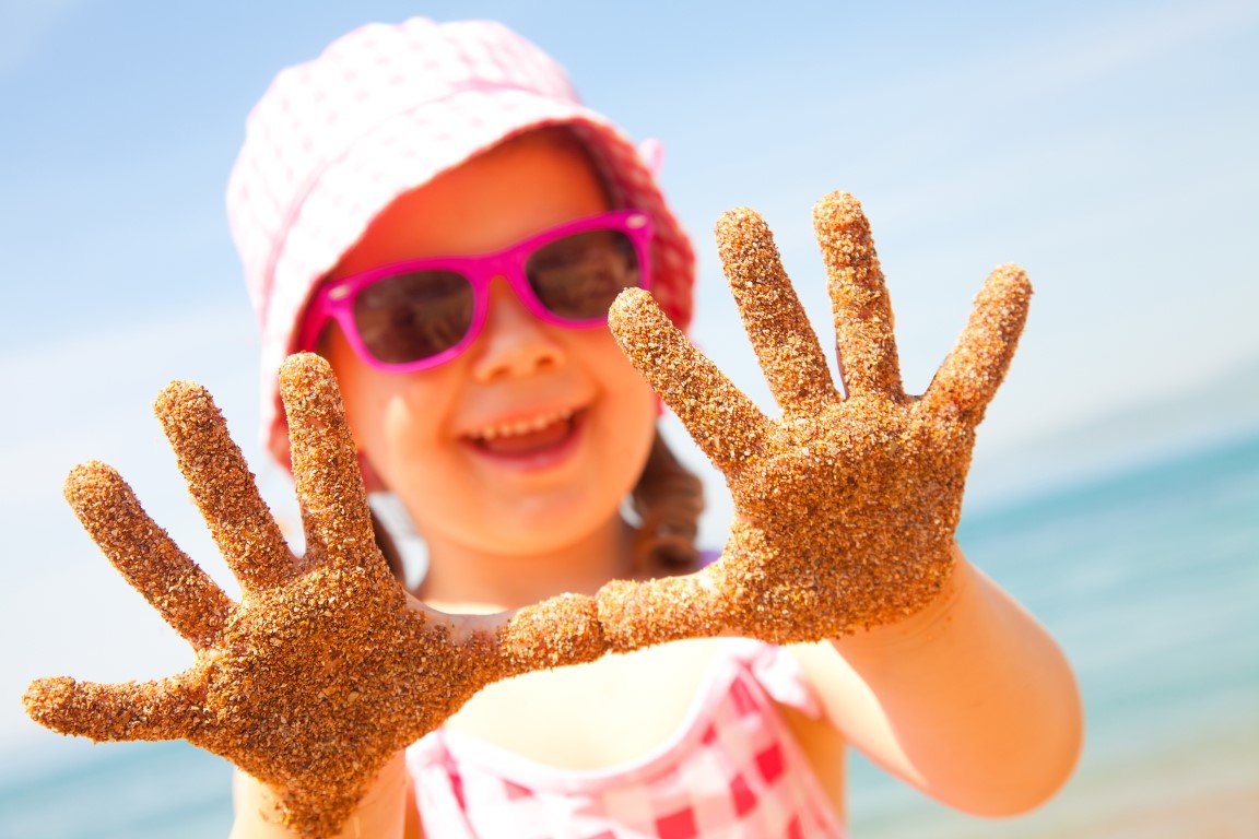
<svg viewBox="0 0 1259 839">
<path fill-rule="evenodd" d="M 927 392 L 901 389 L 893 313 L 856 199 L 815 208 L 846 395 L 750 210 L 718 223 L 721 259 L 782 418 L 771 420 L 645 292 L 613 306 L 626 355 L 725 474 L 735 521 L 719 562 L 599 594 L 614 649 L 734 631 L 777 643 L 838 638 L 929 603 L 953 565 L 974 428 L 1022 331 L 1031 286 L 990 277 Z"/>
</svg>

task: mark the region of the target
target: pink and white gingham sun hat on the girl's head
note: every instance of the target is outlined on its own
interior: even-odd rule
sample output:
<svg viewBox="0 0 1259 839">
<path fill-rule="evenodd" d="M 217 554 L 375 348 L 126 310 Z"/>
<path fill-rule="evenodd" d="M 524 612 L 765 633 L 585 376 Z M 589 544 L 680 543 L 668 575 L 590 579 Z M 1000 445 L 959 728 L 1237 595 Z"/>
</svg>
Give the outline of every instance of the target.
<svg viewBox="0 0 1259 839">
<path fill-rule="evenodd" d="M 504 140 L 568 126 L 617 206 L 648 213 L 653 294 L 691 317 L 695 257 L 646 153 L 582 106 L 564 69 L 490 21 L 370 24 L 282 70 L 251 112 L 228 223 L 262 330 L 263 445 L 287 465 L 276 372 L 324 275 L 394 199 Z"/>
</svg>

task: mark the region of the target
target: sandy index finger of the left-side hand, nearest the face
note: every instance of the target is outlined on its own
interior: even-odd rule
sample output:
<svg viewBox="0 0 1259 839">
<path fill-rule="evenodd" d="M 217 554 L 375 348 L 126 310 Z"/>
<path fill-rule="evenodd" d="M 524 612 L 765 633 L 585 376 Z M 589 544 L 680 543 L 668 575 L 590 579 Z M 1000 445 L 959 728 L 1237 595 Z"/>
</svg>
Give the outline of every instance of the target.
<svg viewBox="0 0 1259 839">
<path fill-rule="evenodd" d="M 279 396 L 288 416 L 307 555 L 335 566 L 361 565 L 374 556 L 380 566 L 374 570 L 388 575 L 332 369 L 310 352 L 290 356 L 279 367 Z"/>
</svg>

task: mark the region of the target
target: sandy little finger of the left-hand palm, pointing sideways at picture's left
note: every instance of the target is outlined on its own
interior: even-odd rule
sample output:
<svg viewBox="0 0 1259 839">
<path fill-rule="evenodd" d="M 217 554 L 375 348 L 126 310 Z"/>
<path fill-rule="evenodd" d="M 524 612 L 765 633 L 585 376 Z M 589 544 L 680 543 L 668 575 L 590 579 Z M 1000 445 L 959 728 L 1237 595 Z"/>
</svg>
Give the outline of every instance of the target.
<svg viewBox="0 0 1259 839">
<path fill-rule="evenodd" d="M 101 684 L 62 675 L 35 679 L 21 697 L 31 720 L 92 740 L 178 740 L 194 728 L 199 703 L 176 678 Z"/>
</svg>

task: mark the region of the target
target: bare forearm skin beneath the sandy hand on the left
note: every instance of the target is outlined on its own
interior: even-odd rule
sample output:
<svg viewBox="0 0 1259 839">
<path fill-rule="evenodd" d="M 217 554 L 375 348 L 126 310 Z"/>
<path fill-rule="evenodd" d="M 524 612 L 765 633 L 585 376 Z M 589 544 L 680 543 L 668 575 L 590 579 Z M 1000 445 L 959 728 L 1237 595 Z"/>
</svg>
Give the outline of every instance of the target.
<svg viewBox="0 0 1259 839">
<path fill-rule="evenodd" d="M 337 836 L 403 839 L 409 784 L 407 766 L 399 752 L 380 770 Z M 297 835 L 281 823 L 274 795 L 257 779 L 237 770 L 233 792 L 235 821 L 230 839 L 288 839 Z"/>
</svg>

